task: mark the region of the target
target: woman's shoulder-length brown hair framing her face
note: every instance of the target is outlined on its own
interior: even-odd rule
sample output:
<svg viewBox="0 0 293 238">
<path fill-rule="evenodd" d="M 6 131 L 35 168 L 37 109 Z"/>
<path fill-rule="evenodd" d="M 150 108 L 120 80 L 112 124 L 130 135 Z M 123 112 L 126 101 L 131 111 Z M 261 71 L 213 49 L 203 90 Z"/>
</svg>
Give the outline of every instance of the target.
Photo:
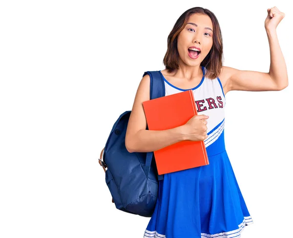
<svg viewBox="0 0 293 238">
<path fill-rule="evenodd" d="M 177 19 L 167 39 L 167 52 L 164 57 L 163 63 L 168 72 L 173 72 L 174 70 L 179 69 L 177 38 L 180 32 L 184 29 L 189 16 L 194 13 L 208 15 L 212 21 L 213 45 L 209 51 L 209 54 L 201 62 L 201 65 L 207 68 L 206 76 L 213 79 L 219 76 L 223 65 L 222 33 L 216 16 L 208 9 L 202 7 L 190 8 Z"/>
</svg>

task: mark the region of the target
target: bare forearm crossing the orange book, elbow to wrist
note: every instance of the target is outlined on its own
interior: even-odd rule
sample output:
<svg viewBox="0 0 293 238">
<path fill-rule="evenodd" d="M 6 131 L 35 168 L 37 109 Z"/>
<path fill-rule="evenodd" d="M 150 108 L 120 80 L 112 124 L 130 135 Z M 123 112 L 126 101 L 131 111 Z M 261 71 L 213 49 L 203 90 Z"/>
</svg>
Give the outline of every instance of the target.
<svg viewBox="0 0 293 238">
<path fill-rule="evenodd" d="M 185 127 L 167 130 L 139 130 L 129 141 L 129 152 L 150 152 L 187 139 Z"/>
</svg>

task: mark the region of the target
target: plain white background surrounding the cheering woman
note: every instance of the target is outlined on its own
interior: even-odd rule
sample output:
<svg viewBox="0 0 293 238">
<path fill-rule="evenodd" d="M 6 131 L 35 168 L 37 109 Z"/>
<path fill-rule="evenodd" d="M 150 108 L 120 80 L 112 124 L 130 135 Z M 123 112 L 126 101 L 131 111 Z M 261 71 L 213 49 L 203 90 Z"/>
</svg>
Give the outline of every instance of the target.
<svg viewBox="0 0 293 238">
<path fill-rule="evenodd" d="M 149 218 L 115 208 L 98 163 L 145 71 L 163 70 L 187 9 L 219 20 L 224 65 L 269 72 L 267 8 L 289 87 L 229 92 L 225 142 L 254 223 L 243 238 L 290 237 L 292 11 L 278 1 L 14 1 L 0 4 L 0 238 L 142 238 Z"/>
</svg>

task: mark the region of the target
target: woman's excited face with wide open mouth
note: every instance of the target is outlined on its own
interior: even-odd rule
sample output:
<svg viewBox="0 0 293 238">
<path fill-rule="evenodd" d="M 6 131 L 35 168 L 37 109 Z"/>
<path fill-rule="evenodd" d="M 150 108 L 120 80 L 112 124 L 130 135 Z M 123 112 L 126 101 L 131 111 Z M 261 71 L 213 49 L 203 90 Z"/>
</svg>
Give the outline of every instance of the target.
<svg viewBox="0 0 293 238">
<path fill-rule="evenodd" d="M 192 14 L 177 39 L 181 61 L 189 66 L 200 65 L 212 47 L 212 31 L 212 21 L 209 16 Z M 200 49 L 199 55 L 194 51 L 195 47 Z"/>
</svg>

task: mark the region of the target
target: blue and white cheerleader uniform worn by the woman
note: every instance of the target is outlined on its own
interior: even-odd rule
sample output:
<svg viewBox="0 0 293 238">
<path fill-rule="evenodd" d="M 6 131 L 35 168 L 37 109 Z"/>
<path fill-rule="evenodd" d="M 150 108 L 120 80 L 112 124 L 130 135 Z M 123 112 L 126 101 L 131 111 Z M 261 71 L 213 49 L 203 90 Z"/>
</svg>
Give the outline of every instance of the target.
<svg viewBox="0 0 293 238">
<path fill-rule="evenodd" d="M 209 116 L 205 140 L 209 165 L 167 173 L 159 180 L 144 238 L 240 238 L 245 226 L 253 223 L 225 148 L 226 100 L 221 81 L 207 78 L 207 69 L 201 68 L 202 80 L 191 90 L 198 115 Z M 163 78 L 166 96 L 189 90 Z"/>
</svg>

